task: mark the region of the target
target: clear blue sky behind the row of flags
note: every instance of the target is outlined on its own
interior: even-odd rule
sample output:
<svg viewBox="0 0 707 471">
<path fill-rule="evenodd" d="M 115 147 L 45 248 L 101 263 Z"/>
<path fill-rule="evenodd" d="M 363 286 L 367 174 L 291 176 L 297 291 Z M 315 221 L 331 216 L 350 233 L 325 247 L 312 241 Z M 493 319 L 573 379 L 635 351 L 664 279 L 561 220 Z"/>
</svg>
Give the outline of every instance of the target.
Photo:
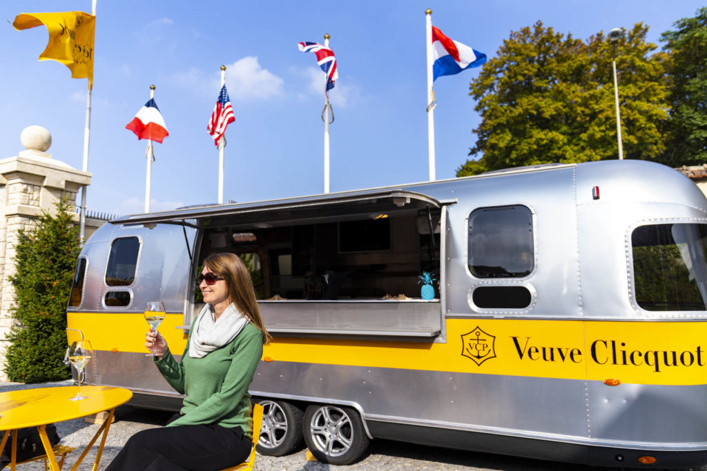
<svg viewBox="0 0 707 471">
<path fill-rule="evenodd" d="M 215 203 L 218 151 L 206 124 L 220 66 L 236 121 L 226 131 L 225 201 L 323 191 L 322 71 L 299 41 L 323 42 L 339 64 L 330 93 L 331 191 L 428 178 L 425 9 L 454 40 L 494 56 L 511 31 L 542 20 L 585 39 L 612 28 L 650 26 L 648 40 L 703 1 L 295 1 L 98 0 L 88 170 L 88 208 L 118 215 L 144 208 L 146 141 L 125 125 L 155 99 L 170 136 L 155 144 L 151 209 Z M 90 0 L 4 0 L 0 4 L 0 158 L 17 155 L 32 124 L 52 133 L 52 153 L 81 169 L 86 79 L 37 61 L 45 28 L 16 31 L 19 13 L 90 12 Z M 607 58 L 609 60 L 609 58 Z M 439 78 L 435 91 L 436 174 L 454 177 L 479 123 L 469 81 L 479 69 Z"/>
</svg>

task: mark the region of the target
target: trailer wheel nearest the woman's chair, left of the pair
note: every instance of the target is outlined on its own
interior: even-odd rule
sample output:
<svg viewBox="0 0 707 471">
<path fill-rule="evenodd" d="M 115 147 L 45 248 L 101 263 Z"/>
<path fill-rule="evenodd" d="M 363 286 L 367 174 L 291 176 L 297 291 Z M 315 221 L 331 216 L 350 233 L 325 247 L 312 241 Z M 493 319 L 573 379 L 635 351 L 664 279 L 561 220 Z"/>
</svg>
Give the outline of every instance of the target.
<svg viewBox="0 0 707 471">
<path fill-rule="evenodd" d="M 263 406 L 260 438 L 255 447 L 261 455 L 284 456 L 302 444 L 302 415 L 299 407 L 280 400 L 258 400 Z"/>
</svg>

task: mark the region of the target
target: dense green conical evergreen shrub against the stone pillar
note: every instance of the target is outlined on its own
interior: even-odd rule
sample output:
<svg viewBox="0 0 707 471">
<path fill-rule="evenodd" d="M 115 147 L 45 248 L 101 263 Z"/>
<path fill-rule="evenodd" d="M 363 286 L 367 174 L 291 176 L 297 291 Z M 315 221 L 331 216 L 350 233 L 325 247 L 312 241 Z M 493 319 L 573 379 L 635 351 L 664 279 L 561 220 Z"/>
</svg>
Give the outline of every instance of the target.
<svg viewBox="0 0 707 471">
<path fill-rule="evenodd" d="M 70 377 L 66 352 L 66 304 L 81 251 L 71 205 L 56 204 L 56 215 L 42 213 L 30 231 L 21 231 L 14 258 L 12 310 L 16 325 L 8 335 L 5 373 L 10 381 L 38 383 Z"/>
</svg>

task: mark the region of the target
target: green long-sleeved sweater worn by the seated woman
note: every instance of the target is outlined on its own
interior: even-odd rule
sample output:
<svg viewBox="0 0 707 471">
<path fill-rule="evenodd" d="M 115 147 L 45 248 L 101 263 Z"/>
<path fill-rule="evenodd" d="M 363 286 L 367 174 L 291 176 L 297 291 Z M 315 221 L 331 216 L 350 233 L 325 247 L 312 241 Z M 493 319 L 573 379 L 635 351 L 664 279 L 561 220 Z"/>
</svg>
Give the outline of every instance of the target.
<svg viewBox="0 0 707 471">
<path fill-rule="evenodd" d="M 170 386 L 187 395 L 180 411 L 184 415 L 168 427 L 218 424 L 240 427 L 252 436 L 248 386 L 262 352 L 262 332 L 248 323 L 230 343 L 203 358 L 189 357 L 187 340 L 181 363 L 170 352 L 156 360 Z"/>
</svg>

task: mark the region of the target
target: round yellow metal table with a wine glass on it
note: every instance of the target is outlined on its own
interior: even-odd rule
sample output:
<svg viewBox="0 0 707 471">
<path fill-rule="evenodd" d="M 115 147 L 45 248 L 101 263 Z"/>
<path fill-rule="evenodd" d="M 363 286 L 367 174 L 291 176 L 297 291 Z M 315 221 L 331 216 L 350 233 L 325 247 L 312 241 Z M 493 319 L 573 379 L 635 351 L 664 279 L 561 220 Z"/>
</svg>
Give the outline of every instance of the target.
<svg viewBox="0 0 707 471">
<path fill-rule="evenodd" d="M 86 399 L 70 400 L 76 396 L 76 393 L 78 393 L 78 387 L 76 386 L 22 389 L 0 393 L 0 431 L 5 431 L 0 443 L 0 450 L 4 449 L 10 431 L 25 427 L 37 427 L 49 458 L 49 465 L 53 471 L 59 471 L 61 468 L 57 463 L 52 451 L 52 445 L 49 443 L 47 432 L 45 431 L 47 424 L 78 419 L 79 417 L 110 410 L 108 418 L 96 431 L 93 439 L 83 450 L 81 456 L 78 457 L 74 467 L 71 467 L 72 471 L 76 470 L 93 446 L 93 443 L 103 432 L 95 463 L 93 463 L 93 470 L 98 470 L 100 455 L 103 453 L 103 446 L 105 445 L 108 429 L 110 429 L 115 407 L 127 403 L 132 398 L 132 392 L 112 386 L 81 386 L 81 395 L 86 396 Z M 15 469 L 16 464 L 16 436 L 17 434 L 13 433 L 12 470 Z"/>
</svg>

